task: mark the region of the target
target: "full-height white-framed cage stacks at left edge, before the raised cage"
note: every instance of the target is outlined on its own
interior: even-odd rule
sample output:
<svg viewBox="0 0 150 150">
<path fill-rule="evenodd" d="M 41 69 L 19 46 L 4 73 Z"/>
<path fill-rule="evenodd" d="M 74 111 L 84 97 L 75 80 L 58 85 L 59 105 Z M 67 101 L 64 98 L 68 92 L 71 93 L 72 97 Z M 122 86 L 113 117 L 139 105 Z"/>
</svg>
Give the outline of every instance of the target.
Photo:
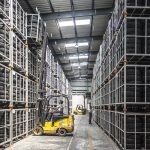
<svg viewBox="0 0 150 150">
<path fill-rule="evenodd" d="M 26 13 L 16 0 L 0 2 L 0 147 L 28 130 Z"/>
</svg>

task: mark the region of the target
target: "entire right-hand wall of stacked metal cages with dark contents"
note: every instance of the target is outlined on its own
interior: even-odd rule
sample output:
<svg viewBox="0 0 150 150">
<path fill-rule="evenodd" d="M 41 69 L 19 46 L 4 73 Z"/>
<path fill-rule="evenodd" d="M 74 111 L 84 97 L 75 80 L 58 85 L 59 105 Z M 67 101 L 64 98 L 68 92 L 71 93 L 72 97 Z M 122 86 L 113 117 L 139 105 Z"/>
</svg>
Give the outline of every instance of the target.
<svg viewBox="0 0 150 150">
<path fill-rule="evenodd" d="M 93 71 L 95 121 L 123 150 L 150 149 L 149 17 L 150 1 L 116 0 Z"/>
</svg>

